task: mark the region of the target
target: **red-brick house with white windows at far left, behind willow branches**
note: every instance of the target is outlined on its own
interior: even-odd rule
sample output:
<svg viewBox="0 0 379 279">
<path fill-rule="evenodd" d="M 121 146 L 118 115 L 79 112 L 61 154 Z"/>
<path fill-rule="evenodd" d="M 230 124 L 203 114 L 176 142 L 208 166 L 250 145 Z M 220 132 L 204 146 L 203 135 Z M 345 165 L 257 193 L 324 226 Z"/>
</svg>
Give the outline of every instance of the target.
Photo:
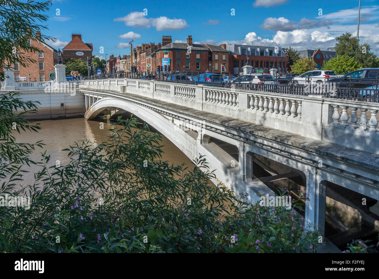
<svg viewBox="0 0 379 279">
<path fill-rule="evenodd" d="M 36 36 L 41 38 L 41 33 L 36 32 Z M 28 64 L 26 67 L 18 63 L 10 65 L 14 69 L 14 79 L 22 82 L 44 82 L 49 81 L 49 73 L 54 72 L 54 66 L 58 64 L 58 51 L 45 42 L 30 40 L 33 47 L 37 47 L 42 52 L 27 52 L 23 54 L 25 58 L 30 58 L 36 63 Z M 24 52 L 24 50 L 22 50 Z M 5 64 L 8 64 L 6 62 Z"/>
</svg>

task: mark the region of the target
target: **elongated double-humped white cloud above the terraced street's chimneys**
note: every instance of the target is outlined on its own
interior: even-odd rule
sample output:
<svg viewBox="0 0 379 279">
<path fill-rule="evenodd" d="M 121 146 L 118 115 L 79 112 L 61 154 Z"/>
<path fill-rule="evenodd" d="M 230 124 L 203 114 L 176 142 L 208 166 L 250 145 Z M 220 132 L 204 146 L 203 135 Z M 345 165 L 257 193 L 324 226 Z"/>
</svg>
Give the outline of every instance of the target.
<svg viewBox="0 0 379 279">
<path fill-rule="evenodd" d="M 132 12 L 124 17 L 117 17 L 114 21 L 122 21 L 126 26 L 150 28 L 154 26 L 157 31 L 163 30 L 181 30 L 189 25 L 184 19 L 169 19 L 161 16 L 157 18 L 146 18 L 143 12 Z"/>
</svg>

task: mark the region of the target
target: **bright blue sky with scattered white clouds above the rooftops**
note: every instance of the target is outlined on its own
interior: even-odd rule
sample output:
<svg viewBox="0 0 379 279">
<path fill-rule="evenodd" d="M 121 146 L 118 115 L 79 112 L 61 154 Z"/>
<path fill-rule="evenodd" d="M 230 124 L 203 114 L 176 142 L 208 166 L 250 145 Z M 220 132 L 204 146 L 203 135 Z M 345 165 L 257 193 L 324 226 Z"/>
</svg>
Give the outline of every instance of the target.
<svg viewBox="0 0 379 279">
<path fill-rule="evenodd" d="M 57 39 L 48 43 L 58 48 L 71 40 L 71 33 L 80 33 L 84 42 L 93 44 L 94 55 L 103 58 L 105 54 L 130 54 L 132 39 L 133 47 L 158 44 L 163 35 L 177 42 L 185 42 L 192 35 L 193 42 L 202 44 L 327 48 L 334 46 L 335 37 L 345 31 L 356 35 L 358 3 L 54 0 L 45 34 Z M 369 43 L 379 55 L 379 0 L 362 0 L 360 19 L 360 41 Z"/>
</svg>

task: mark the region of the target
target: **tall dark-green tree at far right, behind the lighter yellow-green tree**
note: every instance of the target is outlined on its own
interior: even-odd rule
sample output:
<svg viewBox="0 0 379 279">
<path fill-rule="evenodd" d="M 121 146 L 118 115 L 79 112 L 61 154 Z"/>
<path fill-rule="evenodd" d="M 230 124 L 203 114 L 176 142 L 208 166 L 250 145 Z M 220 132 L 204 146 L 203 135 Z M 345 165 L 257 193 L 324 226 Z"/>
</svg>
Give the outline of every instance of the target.
<svg viewBox="0 0 379 279">
<path fill-rule="evenodd" d="M 335 52 L 337 56 L 353 57 L 358 64 L 364 68 L 377 67 L 377 55 L 371 52 L 369 44 L 359 44 L 357 37 L 352 36 L 351 33 L 346 32 L 341 36 L 335 38 Z"/>
</svg>

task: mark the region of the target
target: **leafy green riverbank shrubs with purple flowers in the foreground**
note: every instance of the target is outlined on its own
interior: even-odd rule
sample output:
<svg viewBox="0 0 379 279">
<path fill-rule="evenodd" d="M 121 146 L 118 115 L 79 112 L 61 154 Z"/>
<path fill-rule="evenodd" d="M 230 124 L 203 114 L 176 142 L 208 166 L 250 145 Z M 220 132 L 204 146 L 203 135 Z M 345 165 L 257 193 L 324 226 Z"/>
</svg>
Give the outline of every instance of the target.
<svg viewBox="0 0 379 279">
<path fill-rule="evenodd" d="M 33 105 L 5 96 L 2 137 L 11 137 L 14 119 L 33 130 L 27 120 L 12 116 L 12 109 L 33 110 Z M 247 195 L 237 199 L 221 183 L 210 184 L 215 174 L 204 157 L 191 168 L 170 165 L 161 161 L 161 135 L 146 123 L 132 118 L 117 124 L 99 145 L 66 149 L 64 166 L 49 167 L 46 152 L 34 163 L 29 153 L 13 151 L 40 169 L 31 185 L 17 190 L 11 179 L 0 188 L 0 196 L 27 194 L 32 201 L 30 209 L 0 207 L 0 252 L 314 251 L 318 234 L 302 227 L 298 213 L 250 205 Z M 1 144 L 6 148 L 6 141 Z M 7 154 L 4 159 L 13 160 Z M 8 177 L 19 172 L 9 171 Z"/>
</svg>

